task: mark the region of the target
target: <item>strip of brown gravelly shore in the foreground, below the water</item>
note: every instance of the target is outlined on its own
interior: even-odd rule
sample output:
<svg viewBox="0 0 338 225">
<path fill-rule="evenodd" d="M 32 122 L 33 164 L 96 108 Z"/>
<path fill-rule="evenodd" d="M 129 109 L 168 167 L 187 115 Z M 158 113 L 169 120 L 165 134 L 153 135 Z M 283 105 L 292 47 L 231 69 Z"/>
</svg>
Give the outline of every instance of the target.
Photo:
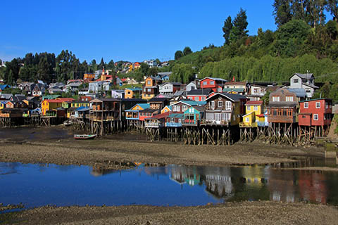
<svg viewBox="0 0 338 225">
<path fill-rule="evenodd" d="M 6 224 L 337 224 L 337 207 L 242 202 L 199 207 L 39 207 L 0 214 Z"/>
</svg>

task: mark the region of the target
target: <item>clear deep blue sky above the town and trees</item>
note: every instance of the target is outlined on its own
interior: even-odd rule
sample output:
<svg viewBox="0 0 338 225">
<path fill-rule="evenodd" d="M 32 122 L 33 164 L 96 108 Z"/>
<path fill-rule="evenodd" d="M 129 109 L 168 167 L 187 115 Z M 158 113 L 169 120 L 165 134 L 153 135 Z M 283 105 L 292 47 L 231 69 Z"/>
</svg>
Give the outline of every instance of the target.
<svg viewBox="0 0 338 225">
<path fill-rule="evenodd" d="M 81 62 L 170 60 L 189 46 L 221 46 L 228 15 L 246 10 L 249 34 L 275 30 L 273 0 L 87 1 L 2 0 L 0 59 L 62 49 Z"/>
</svg>

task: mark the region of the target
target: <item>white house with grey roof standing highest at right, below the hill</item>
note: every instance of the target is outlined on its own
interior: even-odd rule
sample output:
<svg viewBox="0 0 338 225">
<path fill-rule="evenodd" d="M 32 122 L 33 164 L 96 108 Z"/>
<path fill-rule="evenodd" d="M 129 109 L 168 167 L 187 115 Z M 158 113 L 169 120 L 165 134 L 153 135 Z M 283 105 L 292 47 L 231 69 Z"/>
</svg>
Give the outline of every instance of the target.
<svg viewBox="0 0 338 225">
<path fill-rule="evenodd" d="M 304 89 L 306 98 L 312 98 L 315 89 L 318 89 L 318 86 L 315 86 L 315 77 L 312 73 L 295 73 L 290 77 L 290 86 L 287 87 L 289 89 Z"/>
</svg>

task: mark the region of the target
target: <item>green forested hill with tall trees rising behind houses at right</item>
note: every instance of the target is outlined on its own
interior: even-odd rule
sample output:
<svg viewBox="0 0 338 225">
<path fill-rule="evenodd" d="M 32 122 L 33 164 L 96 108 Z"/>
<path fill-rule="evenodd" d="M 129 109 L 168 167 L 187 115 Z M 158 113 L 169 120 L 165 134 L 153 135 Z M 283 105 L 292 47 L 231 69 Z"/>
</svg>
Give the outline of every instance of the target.
<svg viewBox="0 0 338 225">
<path fill-rule="evenodd" d="M 197 73 L 200 78 L 282 82 L 294 72 L 311 72 L 316 82 L 338 85 L 337 5 L 338 1 L 275 0 L 277 30 L 258 29 L 253 36 L 247 34 L 246 11 L 241 8 L 234 20 L 229 16 L 220 27 L 223 46 L 176 51 L 171 79 L 186 83 Z M 327 23 L 325 9 L 333 16 Z"/>
</svg>

